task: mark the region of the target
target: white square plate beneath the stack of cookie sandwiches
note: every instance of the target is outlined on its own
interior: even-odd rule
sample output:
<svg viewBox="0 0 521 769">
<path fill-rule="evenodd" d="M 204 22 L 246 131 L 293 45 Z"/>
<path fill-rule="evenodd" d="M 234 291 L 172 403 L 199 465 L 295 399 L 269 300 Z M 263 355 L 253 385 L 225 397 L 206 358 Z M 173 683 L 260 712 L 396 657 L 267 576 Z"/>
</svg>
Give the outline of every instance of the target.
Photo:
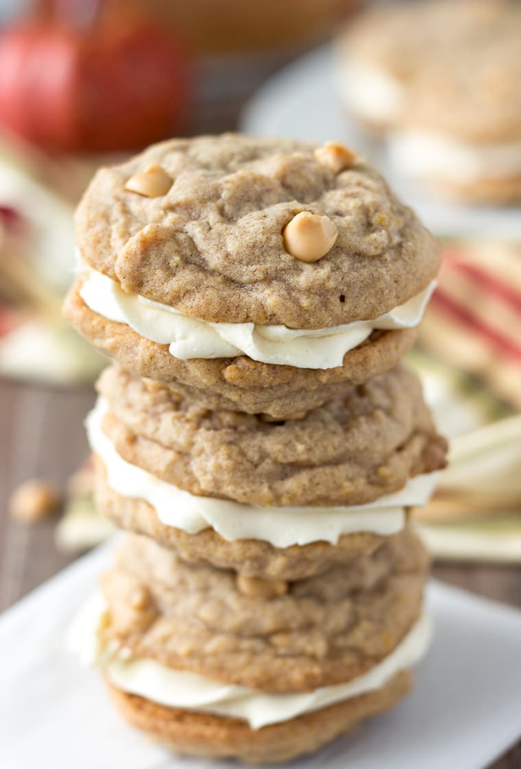
<svg viewBox="0 0 521 769">
<path fill-rule="evenodd" d="M 94 671 L 68 657 L 75 608 L 109 562 L 99 548 L 0 618 L 1 769 L 209 769 L 176 757 L 115 713 Z M 436 623 L 416 687 L 292 769 L 483 769 L 521 734 L 521 612 L 432 582 Z"/>
</svg>

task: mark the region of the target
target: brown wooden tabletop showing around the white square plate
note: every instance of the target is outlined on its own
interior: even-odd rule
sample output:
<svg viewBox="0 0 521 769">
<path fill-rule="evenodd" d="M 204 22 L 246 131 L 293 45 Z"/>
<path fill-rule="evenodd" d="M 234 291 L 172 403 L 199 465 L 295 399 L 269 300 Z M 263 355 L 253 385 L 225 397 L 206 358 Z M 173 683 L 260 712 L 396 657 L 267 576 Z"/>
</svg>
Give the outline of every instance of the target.
<svg viewBox="0 0 521 769">
<path fill-rule="evenodd" d="M 88 453 L 82 421 L 93 401 L 91 388 L 68 390 L 0 380 L 0 611 L 73 560 L 55 548 L 55 521 L 32 527 L 18 524 L 8 517 L 6 501 L 25 478 L 65 482 Z M 434 574 L 521 606 L 521 568 L 436 565 Z M 519 767 L 521 742 L 493 764 L 493 769 Z"/>
</svg>

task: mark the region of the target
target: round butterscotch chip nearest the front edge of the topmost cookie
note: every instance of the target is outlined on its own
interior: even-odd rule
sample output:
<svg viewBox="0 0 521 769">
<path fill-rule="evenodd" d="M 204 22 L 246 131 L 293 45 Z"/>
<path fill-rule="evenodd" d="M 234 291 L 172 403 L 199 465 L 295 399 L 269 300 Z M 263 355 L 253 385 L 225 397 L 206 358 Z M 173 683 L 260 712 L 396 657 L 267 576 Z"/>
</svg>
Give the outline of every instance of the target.
<svg viewBox="0 0 521 769">
<path fill-rule="evenodd" d="M 286 251 L 300 261 L 319 261 L 335 245 L 339 231 L 327 216 L 301 211 L 282 231 Z"/>
</svg>

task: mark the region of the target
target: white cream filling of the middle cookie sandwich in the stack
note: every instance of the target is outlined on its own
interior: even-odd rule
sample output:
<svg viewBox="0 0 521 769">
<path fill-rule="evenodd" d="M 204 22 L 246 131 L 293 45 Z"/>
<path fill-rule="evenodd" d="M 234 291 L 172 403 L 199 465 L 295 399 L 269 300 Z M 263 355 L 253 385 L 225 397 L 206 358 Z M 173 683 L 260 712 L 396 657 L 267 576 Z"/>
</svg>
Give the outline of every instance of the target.
<svg viewBox="0 0 521 769">
<path fill-rule="evenodd" d="M 189 534 L 212 528 L 228 541 L 261 539 L 276 548 L 316 541 L 336 544 L 342 534 L 360 531 L 388 536 L 405 526 L 403 508 L 426 504 L 438 477 L 437 473 L 416 476 L 401 491 L 386 494 L 377 502 L 351 507 L 264 508 L 231 500 L 197 497 L 155 478 L 120 457 L 110 438 L 102 431 L 102 419 L 107 408 L 105 399 L 99 398 L 85 424 L 92 451 L 105 464 L 109 486 L 122 496 L 148 502 L 165 526 L 182 529 Z"/>
</svg>

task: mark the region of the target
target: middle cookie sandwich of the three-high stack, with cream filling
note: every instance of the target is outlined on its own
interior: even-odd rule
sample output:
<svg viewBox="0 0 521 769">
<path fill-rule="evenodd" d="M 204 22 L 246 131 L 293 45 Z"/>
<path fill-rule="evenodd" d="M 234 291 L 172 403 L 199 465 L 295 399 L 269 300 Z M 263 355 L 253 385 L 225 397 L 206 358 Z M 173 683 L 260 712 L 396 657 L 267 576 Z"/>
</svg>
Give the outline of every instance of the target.
<svg viewBox="0 0 521 769">
<path fill-rule="evenodd" d="M 209 411 L 105 370 L 87 420 L 96 503 L 190 562 L 300 579 L 406 528 L 445 464 L 419 381 L 401 365 L 302 419 Z"/>
</svg>

